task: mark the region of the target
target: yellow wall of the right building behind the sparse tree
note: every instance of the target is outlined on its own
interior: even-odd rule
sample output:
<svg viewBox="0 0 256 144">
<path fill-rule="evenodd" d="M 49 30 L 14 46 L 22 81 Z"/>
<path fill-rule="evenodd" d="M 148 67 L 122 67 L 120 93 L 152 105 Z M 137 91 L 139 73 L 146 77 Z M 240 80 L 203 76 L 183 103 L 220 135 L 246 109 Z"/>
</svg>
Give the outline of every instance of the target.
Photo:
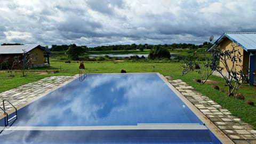
<svg viewBox="0 0 256 144">
<path fill-rule="evenodd" d="M 223 40 L 223 42 L 220 44 L 220 49 L 221 49 L 222 51 L 226 51 L 226 50 L 230 50 L 230 51 L 231 51 L 231 50 L 233 49 L 233 47 L 235 47 L 235 49 L 238 49 L 238 51 L 239 51 L 242 55 L 244 54 L 244 50 L 242 49 L 242 47 L 237 46 L 237 44 L 235 44 L 234 42 L 230 41 L 230 39 L 228 39 L 228 38 L 226 38 L 225 40 Z M 237 53 L 237 54 L 238 54 L 238 53 Z M 238 65 L 243 65 L 243 63 L 246 62 L 246 59 L 241 58 L 241 60 L 242 60 L 241 63 L 239 63 L 239 61 L 238 61 L 238 63 L 235 63 L 235 65 L 236 65 L 236 64 L 238 64 Z M 248 61 L 248 60 L 247 60 L 247 61 Z M 231 62 L 231 60 L 228 60 L 227 63 L 228 63 L 229 68 L 231 68 L 232 65 L 233 65 L 232 62 Z M 247 66 L 248 66 L 248 64 L 247 64 Z M 224 67 L 221 62 L 220 62 L 220 67 Z M 224 67 L 224 68 L 225 68 L 225 67 Z M 239 70 L 241 70 L 241 69 L 242 69 L 241 67 L 236 66 L 236 71 L 239 71 Z M 226 69 L 223 69 L 223 71 L 224 71 L 224 72 L 227 72 Z"/>
</svg>

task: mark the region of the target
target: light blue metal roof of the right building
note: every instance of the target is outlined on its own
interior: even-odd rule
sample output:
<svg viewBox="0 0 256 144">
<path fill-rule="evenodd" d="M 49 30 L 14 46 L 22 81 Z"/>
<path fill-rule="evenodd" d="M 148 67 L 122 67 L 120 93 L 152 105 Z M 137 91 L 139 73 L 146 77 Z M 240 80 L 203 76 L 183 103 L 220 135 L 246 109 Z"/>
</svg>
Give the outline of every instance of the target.
<svg viewBox="0 0 256 144">
<path fill-rule="evenodd" d="M 224 33 L 207 51 L 218 46 L 225 38 L 229 38 L 247 52 L 256 51 L 256 33 Z"/>
</svg>

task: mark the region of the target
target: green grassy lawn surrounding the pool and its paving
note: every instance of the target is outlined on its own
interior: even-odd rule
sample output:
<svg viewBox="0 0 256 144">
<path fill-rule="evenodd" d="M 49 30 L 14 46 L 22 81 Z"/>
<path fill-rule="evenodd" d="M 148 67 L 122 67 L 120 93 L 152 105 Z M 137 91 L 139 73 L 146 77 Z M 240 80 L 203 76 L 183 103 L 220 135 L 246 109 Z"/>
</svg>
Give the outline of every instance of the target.
<svg viewBox="0 0 256 144">
<path fill-rule="evenodd" d="M 122 69 L 127 73 L 151 73 L 156 72 L 164 76 L 171 76 L 172 79 L 182 79 L 182 81 L 193 86 L 198 92 L 201 92 L 215 102 L 218 102 L 224 108 L 231 111 L 232 114 L 241 118 L 244 122 L 256 127 L 256 107 L 249 106 L 246 100 L 252 100 L 256 103 L 256 86 L 243 85 L 239 91 L 245 96 L 245 100 L 238 100 L 233 97 L 227 97 L 227 86 L 220 77 L 211 76 L 214 83 L 200 84 L 193 79 L 199 79 L 196 72 L 181 76 L 179 62 L 173 61 L 85 61 L 85 70 L 87 73 L 120 73 Z M 57 76 L 57 75 L 75 75 L 78 74 L 79 61 L 65 63 L 61 60 L 51 60 L 50 68 L 31 69 L 27 77 L 21 77 L 20 71 L 14 71 L 15 77 L 9 77 L 10 73 L 1 71 L 0 92 L 10 90 L 14 87 L 37 81 L 38 79 Z M 218 85 L 221 91 L 212 89 L 211 85 Z"/>
</svg>

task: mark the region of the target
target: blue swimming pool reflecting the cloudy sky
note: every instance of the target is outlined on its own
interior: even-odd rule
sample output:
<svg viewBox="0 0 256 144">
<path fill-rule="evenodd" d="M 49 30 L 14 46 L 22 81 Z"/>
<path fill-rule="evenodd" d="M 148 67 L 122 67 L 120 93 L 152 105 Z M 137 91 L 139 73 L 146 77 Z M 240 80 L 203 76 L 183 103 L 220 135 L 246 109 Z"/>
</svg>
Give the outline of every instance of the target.
<svg viewBox="0 0 256 144">
<path fill-rule="evenodd" d="M 19 109 L 4 142 L 221 143 L 156 73 L 74 79 Z"/>
</svg>

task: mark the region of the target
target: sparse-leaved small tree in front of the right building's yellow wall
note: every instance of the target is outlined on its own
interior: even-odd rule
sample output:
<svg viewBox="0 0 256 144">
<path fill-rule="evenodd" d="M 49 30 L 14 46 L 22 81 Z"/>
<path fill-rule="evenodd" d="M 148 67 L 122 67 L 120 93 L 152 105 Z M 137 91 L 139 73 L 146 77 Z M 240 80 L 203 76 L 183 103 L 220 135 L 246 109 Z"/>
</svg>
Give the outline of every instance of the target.
<svg viewBox="0 0 256 144">
<path fill-rule="evenodd" d="M 220 48 L 215 49 L 220 58 L 221 66 L 216 70 L 225 79 L 228 85 L 228 96 L 236 94 L 239 87 L 248 81 L 248 75 L 243 72 L 242 58 L 243 55 L 236 49 L 238 45 L 231 43 L 231 50 L 222 51 Z M 223 70 L 226 70 L 226 73 Z M 238 70 L 240 69 L 240 70 Z"/>
</svg>

